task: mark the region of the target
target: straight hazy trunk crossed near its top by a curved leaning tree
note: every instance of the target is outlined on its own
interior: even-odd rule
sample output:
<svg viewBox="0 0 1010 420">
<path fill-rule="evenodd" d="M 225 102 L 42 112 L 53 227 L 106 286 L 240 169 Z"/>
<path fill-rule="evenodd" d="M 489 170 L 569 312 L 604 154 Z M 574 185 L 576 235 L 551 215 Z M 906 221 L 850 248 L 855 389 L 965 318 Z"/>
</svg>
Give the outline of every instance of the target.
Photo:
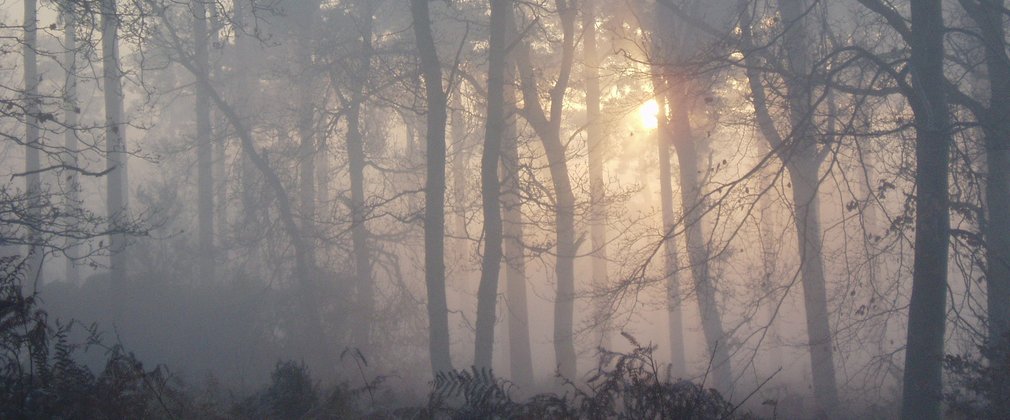
<svg viewBox="0 0 1010 420">
<path fill-rule="evenodd" d="M 207 8 L 205 0 L 193 0 L 193 38 L 196 42 L 194 65 L 200 77 L 210 78 L 208 59 Z M 197 258 L 200 281 L 214 280 L 214 175 L 211 149 L 210 100 L 203 89 L 196 89 L 196 153 L 197 153 Z"/>
</svg>

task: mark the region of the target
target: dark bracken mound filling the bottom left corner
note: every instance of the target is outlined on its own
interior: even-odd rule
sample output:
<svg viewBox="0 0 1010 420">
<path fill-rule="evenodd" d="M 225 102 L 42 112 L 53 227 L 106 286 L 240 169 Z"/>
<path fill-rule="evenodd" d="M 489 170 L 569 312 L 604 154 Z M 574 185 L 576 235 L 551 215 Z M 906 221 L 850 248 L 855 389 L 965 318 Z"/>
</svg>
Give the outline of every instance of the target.
<svg viewBox="0 0 1010 420">
<path fill-rule="evenodd" d="M 97 377 L 78 363 L 79 348 L 100 344 L 97 328 L 87 328 L 85 344 L 72 344 L 75 323 L 49 323 L 37 296 L 24 294 L 23 271 L 20 258 L 0 258 L 0 418 L 174 417 L 163 366 L 145 371 L 118 345 Z"/>
</svg>

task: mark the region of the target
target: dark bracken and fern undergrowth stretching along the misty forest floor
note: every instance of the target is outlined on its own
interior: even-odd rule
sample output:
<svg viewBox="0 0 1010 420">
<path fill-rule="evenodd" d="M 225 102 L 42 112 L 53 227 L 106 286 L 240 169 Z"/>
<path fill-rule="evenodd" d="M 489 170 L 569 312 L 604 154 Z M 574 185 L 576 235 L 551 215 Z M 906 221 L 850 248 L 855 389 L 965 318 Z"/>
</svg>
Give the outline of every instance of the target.
<svg viewBox="0 0 1010 420">
<path fill-rule="evenodd" d="M 148 370 L 122 345 L 105 345 L 96 325 L 52 322 L 37 294 L 22 287 L 24 264 L 0 258 L 0 418 L 2 419 L 742 419 L 714 390 L 664 373 L 630 335 L 630 352 L 601 349 L 598 368 L 561 393 L 518 400 L 517 387 L 489 370 L 444 372 L 423 404 L 403 401 L 385 378 L 366 381 L 364 355 L 345 350 L 363 385 L 326 391 L 304 363 L 278 361 L 270 385 L 246 397 L 224 395 L 213 377 L 187 386 L 164 365 Z M 75 330 L 76 328 L 79 328 Z M 79 337 L 82 338 L 72 338 Z M 79 353 L 105 351 L 97 374 Z"/>
</svg>

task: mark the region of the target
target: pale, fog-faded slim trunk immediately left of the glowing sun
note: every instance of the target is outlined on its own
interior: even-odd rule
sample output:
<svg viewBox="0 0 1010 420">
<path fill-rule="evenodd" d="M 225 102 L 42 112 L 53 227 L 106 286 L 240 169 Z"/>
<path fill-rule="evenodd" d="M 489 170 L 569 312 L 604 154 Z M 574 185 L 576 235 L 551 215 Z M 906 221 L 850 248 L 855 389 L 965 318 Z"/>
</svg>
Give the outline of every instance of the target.
<svg viewBox="0 0 1010 420">
<path fill-rule="evenodd" d="M 600 57 L 596 47 L 596 6 L 594 0 L 586 0 L 582 6 L 582 51 L 583 71 L 586 79 L 586 141 L 589 154 L 589 224 L 593 245 L 593 287 L 602 290 L 607 287 L 607 205 L 603 183 L 604 153 L 607 150 L 603 118 L 600 115 Z M 596 317 L 609 315 L 605 299 L 598 299 L 594 305 Z M 608 323 L 601 322 L 598 341 L 608 345 Z"/>
</svg>

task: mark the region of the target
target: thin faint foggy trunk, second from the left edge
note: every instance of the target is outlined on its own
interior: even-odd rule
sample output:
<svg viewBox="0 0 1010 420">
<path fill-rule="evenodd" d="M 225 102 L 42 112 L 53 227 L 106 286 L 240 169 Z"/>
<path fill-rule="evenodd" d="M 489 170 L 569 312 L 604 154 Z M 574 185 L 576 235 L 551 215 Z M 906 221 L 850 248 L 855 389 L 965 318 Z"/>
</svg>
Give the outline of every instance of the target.
<svg viewBox="0 0 1010 420">
<path fill-rule="evenodd" d="M 80 168 L 78 162 L 77 126 L 78 109 L 77 103 L 77 10 L 75 3 L 64 1 L 61 3 L 61 13 L 64 18 L 64 70 L 66 81 L 64 82 L 64 147 L 67 148 L 66 164 L 73 168 Z M 70 171 L 67 179 L 67 206 L 71 209 L 81 207 L 81 175 L 77 171 Z M 77 259 L 80 257 L 77 243 L 71 241 L 67 247 L 67 281 L 78 285 L 81 283 L 81 272 L 77 268 Z"/>
</svg>

